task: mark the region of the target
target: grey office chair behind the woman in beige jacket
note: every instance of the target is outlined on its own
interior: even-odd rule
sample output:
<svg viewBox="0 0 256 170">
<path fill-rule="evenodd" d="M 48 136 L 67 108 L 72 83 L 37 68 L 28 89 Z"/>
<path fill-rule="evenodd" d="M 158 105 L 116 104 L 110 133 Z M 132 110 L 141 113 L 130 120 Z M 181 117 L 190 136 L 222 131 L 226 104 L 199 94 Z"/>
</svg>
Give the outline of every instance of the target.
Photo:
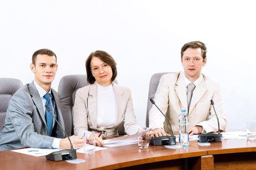
<svg viewBox="0 0 256 170">
<path fill-rule="evenodd" d="M 117 81 L 114 81 L 117 83 Z M 76 91 L 88 85 L 85 74 L 64 76 L 59 83 L 59 97 L 61 102 L 61 111 L 65 123 L 66 133 L 70 136 L 74 134 L 73 125 L 73 106 L 75 102 Z M 118 127 L 118 134 L 125 135 L 124 122 Z"/>
</svg>

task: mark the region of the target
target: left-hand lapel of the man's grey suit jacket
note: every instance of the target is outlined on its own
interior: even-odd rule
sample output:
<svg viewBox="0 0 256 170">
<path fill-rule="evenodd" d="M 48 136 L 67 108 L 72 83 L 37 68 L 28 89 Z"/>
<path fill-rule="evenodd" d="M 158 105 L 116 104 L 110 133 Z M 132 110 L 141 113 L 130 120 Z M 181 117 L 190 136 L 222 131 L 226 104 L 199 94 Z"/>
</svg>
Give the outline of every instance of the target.
<svg viewBox="0 0 256 170">
<path fill-rule="evenodd" d="M 32 82 L 31 84 L 28 85 L 28 89 L 30 92 L 30 95 L 32 96 L 32 101 L 34 102 L 34 104 L 37 107 L 37 110 L 39 112 L 39 115 L 41 116 L 44 125 L 47 127 L 46 125 L 46 121 L 45 121 L 45 117 L 44 117 L 44 113 L 43 113 L 43 104 L 42 104 L 42 100 L 40 98 L 40 95 L 37 91 L 36 86 L 34 85 L 34 83 Z"/>
</svg>

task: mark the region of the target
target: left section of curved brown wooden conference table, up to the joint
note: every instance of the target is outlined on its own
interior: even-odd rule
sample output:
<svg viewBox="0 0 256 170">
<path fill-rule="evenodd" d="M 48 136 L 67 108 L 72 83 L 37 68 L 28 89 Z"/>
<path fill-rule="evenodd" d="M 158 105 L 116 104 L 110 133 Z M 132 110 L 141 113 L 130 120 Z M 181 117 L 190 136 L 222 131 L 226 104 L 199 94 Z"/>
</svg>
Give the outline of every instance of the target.
<svg viewBox="0 0 256 170">
<path fill-rule="evenodd" d="M 95 152 L 94 155 L 77 153 L 82 164 L 70 164 L 65 161 L 53 162 L 45 156 L 31 156 L 11 151 L 0 152 L 0 168 L 4 170 L 87 170 L 87 169 L 120 169 L 137 165 L 152 167 L 184 167 L 184 159 L 206 155 L 207 151 L 195 147 L 168 149 L 164 146 L 149 146 L 139 149 L 137 144 L 108 148 Z M 173 160 L 173 161 L 171 161 Z M 160 166 L 161 165 L 161 166 Z M 183 169 L 183 168 L 182 168 Z"/>
</svg>

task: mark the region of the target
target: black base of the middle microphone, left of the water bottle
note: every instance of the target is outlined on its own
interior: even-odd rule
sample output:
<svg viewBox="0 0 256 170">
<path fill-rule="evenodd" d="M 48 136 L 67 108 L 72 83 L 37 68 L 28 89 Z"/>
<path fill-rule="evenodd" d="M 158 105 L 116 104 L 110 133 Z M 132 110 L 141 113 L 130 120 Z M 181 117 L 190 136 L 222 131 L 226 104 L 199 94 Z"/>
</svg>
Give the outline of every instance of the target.
<svg viewBox="0 0 256 170">
<path fill-rule="evenodd" d="M 153 137 L 150 139 L 150 144 L 154 146 L 176 145 L 176 136 Z"/>
</svg>

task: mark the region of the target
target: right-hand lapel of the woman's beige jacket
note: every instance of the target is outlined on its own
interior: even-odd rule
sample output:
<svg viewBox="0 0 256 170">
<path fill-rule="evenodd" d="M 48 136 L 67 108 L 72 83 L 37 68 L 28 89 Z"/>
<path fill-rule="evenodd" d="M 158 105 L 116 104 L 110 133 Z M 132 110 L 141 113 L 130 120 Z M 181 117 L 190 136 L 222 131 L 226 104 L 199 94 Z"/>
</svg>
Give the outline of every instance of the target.
<svg viewBox="0 0 256 170">
<path fill-rule="evenodd" d="M 125 99 L 125 91 L 124 89 L 120 88 L 120 86 L 118 86 L 117 84 L 115 84 L 114 82 L 113 84 L 113 89 L 114 89 L 114 93 L 115 93 L 115 100 L 117 103 L 116 109 L 117 109 L 117 119 L 115 121 L 115 124 L 120 123 L 123 119 L 123 113 L 126 107 L 126 99 Z"/>
</svg>

